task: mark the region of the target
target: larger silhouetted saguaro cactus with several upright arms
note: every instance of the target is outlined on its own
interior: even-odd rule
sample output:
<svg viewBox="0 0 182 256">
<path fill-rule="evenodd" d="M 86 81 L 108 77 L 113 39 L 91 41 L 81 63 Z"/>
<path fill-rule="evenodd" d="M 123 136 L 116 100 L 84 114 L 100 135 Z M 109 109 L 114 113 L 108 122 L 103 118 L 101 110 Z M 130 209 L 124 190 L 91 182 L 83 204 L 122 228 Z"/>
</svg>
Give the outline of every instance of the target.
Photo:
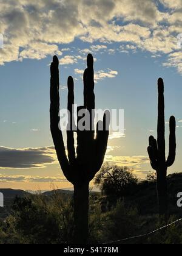
<svg viewBox="0 0 182 256">
<path fill-rule="evenodd" d="M 107 113 L 103 121 L 99 121 L 95 131 L 77 130 L 77 148 L 75 152 L 75 141 L 73 129 L 67 130 L 67 151 L 64 146 L 62 131 L 59 129 L 59 61 L 56 56 L 50 67 L 50 129 L 56 154 L 67 180 L 74 186 L 74 222 L 75 239 L 74 243 L 87 243 L 89 235 L 88 213 L 89 213 L 89 183 L 103 165 L 106 154 L 107 141 L 109 137 L 109 122 L 106 122 Z M 75 124 L 72 117 L 72 105 L 74 104 L 74 83 L 73 78 L 68 79 L 68 110 L 71 118 L 68 126 Z M 95 108 L 94 94 L 94 71 L 93 57 L 87 57 L 87 69 L 84 72 L 84 106 L 78 107 L 83 112 L 90 114 Z M 91 115 L 90 115 L 91 116 Z M 79 122 L 80 116 L 78 116 Z M 93 120 L 93 118 L 90 118 Z M 107 119 L 108 121 L 108 119 Z M 107 125 L 106 125 L 107 123 Z M 99 127 L 103 126 L 103 129 Z M 107 127 L 106 127 L 107 126 Z"/>
</svg>

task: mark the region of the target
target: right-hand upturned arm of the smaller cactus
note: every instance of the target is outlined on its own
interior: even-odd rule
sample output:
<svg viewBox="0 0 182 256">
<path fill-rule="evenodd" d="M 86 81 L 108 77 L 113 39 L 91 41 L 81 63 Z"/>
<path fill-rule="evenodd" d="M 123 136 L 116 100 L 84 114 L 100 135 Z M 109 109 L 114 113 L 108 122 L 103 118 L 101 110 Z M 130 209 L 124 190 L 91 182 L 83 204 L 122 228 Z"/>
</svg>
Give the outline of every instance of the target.
<svg viewBox="0 0 182 256">
<path fill-rule="evenodd" d="M 170 117 L 169 121 L 169 127 L 170 127 L 170 135 L 169 135 L 169 157 L 167 158 L 167 166 L 170 167 L 175 162 L 175 156 L 176 156 L 176 135 L 175 135 L 175 129 L 176 129 L 176 120 L 174 116 Z"/>
</svg>

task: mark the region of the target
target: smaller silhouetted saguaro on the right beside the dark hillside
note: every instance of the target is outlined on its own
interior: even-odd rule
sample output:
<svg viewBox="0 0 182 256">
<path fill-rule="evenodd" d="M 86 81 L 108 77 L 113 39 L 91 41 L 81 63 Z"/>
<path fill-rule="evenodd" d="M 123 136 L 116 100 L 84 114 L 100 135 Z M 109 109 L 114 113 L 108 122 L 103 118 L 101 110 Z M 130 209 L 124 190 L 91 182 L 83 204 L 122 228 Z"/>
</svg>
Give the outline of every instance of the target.
<svg viewBox="0 0 182 256">
<path fill-rule="evenodd" d="M 172 166 L 176 155 L 176 121 L 171 116 L 169 121 L 169 156 L 166 160 L 165 152 L 165 117 L 164 117 L 164 82 L 158 79 L 158 128 L 157 140 L 150 136 L 148 153 L 153 169 L 157 171 L 157 193 L 159 213 L 167 213 L 167 168 Z"/>
</svg>

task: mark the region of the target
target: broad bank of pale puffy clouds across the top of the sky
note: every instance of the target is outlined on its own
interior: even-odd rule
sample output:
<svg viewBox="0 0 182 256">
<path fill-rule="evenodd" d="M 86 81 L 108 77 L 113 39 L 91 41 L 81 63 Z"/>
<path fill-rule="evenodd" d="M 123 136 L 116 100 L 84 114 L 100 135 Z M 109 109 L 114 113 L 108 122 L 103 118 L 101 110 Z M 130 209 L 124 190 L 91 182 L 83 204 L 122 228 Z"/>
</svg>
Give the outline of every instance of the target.
<svg viewBox="0 0 182 256">
<path fill-rule="evenodd" d="M 0 33 L 4 35 L 0 65 L 22 59 L 62 55 L 61 44 L 76 38 L 94 43 L 129 43 L 152 54 L 166 54 L 164 66 L 182 73 L 181 0 L 0 0 Z M 113 49 L 110 49 L 113 53 Z M 72 64 L 75 58 L 62 58 Z"/>
</svg>

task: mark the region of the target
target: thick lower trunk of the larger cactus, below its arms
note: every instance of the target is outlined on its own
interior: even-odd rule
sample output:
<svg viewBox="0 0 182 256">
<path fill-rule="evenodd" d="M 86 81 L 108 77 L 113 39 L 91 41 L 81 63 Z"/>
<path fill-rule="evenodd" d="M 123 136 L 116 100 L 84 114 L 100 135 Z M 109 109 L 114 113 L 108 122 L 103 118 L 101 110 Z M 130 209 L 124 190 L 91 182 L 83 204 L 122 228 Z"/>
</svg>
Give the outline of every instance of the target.
<svg viewBox="0 0 182 256">
<path fill-rule="evenodd" d="M 74 242 L 86 244 L 89 236 L 89 183 L 74 185 Z"/>
</svg>

